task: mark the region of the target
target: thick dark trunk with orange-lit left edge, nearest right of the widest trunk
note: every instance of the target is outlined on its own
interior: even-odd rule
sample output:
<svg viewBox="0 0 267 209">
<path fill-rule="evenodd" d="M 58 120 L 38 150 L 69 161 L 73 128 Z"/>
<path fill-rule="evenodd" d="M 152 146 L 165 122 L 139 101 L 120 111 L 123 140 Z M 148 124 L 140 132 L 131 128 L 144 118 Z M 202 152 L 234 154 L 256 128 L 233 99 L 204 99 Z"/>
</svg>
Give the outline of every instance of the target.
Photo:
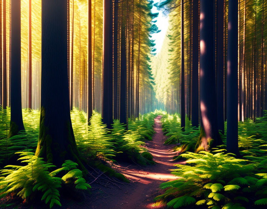
<svg viewBox="0 0 267 209">
<path fill-rule="evenodd" d="M 102 118 L 107 128 L 111 129 L 113 123 L 113 92 L 112 92 L 112 1 L 104 0 L 103 4 L 103 95 Z"/>
</svg>

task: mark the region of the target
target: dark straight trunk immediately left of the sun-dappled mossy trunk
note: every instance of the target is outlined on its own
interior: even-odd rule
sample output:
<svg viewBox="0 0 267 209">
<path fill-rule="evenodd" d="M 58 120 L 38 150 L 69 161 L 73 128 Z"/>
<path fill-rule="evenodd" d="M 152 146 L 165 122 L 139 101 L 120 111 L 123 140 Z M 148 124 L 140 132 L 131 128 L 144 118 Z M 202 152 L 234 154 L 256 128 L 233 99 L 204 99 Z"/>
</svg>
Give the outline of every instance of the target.
<svg viewBox="0 0 267 209">
<path fill-rule="evenodd" d="M 198 35 L 199 35 L 199 0 L 193 0 L 193 40 L 192 40 L 192 126 L 198 127 L 199 108 L 198 108 Z"/>
</svg>

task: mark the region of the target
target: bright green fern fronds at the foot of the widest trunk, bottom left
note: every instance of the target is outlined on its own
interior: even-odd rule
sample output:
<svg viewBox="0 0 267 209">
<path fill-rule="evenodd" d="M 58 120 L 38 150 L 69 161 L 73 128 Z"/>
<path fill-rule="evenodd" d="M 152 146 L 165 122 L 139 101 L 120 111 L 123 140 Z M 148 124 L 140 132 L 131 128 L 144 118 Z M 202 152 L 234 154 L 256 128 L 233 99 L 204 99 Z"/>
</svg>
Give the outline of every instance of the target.
<svg viewBox="0 0 267 209">
<path fill-rule="evenodd" d="M 1 170 L 0 193 L 3 196 L 15 192 L 23 199 L 29 198 L 33 192 L 41 191 L 43 193 L 41 200 L 49 204 L 60 205 L 60 194 L 58 188 L 63 181 L 74 183 L 76 189 L 87 190 L 91 186 L 82 178 L 82 171 L 77 169 L 77 163 L 70 160 L 63 163 L 63 167 L 49 173 L 48 169 L 55 167 L 51 163 L 46 163 L 42 158 L 34 156 L 31 152 L 17 153 L 21 157 L 21 162 L 27 162 L 25 166 L 8 165 Z M 7 169 L 8 168 L 8 169 Z M 60 172 L 67 172 L 62 178 L 55 177 Z"/>
</svg>

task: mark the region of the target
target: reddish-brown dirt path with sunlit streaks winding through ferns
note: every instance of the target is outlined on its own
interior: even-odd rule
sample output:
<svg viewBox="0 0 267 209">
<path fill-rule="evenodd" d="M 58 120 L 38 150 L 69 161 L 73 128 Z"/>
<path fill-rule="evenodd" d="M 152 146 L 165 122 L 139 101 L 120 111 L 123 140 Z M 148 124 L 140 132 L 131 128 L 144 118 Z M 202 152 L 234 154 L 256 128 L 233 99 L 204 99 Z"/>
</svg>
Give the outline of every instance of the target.
<svg viewBox="0 0 267 209">
<path fill-rule="evenodd" d="M 153 205 L 153 199 L 161 194 L 159 185 L 162 182 L 177 178 L 169 170 L 175 168 L 173 165 L 177 164 L 172 160 L 177 152 L 173 151 L 172 145 L 163 144 L 166 136 L 163 135 L 160 118 L 159 115 L 154 119 L 156 133 L 152 141 L 146 143 L 146 148 L 153 155 L 156 164 L 147 167 L 126 163 L 116 166 L 118 172 L 131 181 L 130 185 L 119 184 L 120 188 L 115 186 L 113 189 L 101 187 L 105 194 L 99 199 L 97 196 L 91 197 L 90 204 L 87 203 L 89 207 L 99 209 L 165 208 L 163 205 Z"/>
</svg>

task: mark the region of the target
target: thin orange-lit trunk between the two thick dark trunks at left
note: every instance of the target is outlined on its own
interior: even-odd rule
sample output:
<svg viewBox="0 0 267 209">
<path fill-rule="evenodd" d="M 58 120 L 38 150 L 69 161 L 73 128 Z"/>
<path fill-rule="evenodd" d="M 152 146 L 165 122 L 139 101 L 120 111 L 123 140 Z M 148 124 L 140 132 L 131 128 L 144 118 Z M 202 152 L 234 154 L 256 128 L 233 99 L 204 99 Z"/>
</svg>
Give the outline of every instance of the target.
<svg viewBox="0 0 267 209">
<path fill-rule="evenodd" d="M 28 92 L 28 108 L 32 109 L 32 0 L 29 0 L 29 92 Z"/>
</svg>

